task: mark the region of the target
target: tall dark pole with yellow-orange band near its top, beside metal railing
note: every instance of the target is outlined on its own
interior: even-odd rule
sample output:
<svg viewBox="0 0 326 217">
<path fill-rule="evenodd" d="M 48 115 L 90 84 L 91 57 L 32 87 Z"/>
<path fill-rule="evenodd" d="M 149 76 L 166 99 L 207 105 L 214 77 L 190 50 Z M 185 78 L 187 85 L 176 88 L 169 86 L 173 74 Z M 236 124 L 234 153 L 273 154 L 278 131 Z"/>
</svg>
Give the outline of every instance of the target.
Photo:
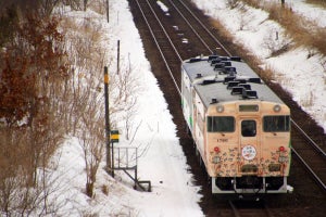
<svg viewBox="0 0 326 217">
<path fill-rule="evenodd" d="M 104 66 L 104 99 L 105 99 L 105 148 L 106 148 L 106 171 L 112 173 L 110 150 L 110 114 L 109 114 L 109 74 Z"/>
</svg>

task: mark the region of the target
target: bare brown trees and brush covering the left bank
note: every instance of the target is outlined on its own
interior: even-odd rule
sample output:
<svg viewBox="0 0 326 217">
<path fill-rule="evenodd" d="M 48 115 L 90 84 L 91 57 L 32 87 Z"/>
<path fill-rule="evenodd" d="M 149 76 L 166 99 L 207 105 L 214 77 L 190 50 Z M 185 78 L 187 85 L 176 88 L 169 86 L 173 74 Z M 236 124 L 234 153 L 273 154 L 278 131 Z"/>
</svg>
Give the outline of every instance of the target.
<svg viewBox="0 0 326 217">
<path fill-rule="evenodd" d="M 112 60 L 97 43 L 102 27 L 87 17 L 70 26 L 73 17 L 53 15 L 58 5 L 86 10 L 88 1 L 0 0 L 1 215 L 55 214 L 49 197 L 62 187 L 49 161 L 67 135 L 79 139 L 85 193 L 93 196 L 105 144 L 102 71 Z M 111 126 L 125 119 L 127 139 L 137 132 L 135 80 L 130 66 L 110 79 Z"/>
</svg>

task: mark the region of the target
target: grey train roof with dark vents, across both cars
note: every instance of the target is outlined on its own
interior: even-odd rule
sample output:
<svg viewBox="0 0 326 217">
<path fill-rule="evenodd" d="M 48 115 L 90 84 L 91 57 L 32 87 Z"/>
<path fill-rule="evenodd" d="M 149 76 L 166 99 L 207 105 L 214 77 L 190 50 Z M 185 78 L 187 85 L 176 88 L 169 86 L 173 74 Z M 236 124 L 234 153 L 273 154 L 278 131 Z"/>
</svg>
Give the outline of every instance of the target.
<svg viewBox="0 0 326 217">
<path fill-rule="evenodd" d="M 183 68 L 208 107 L 216 102 L 258 100 L 284 104 L 240 58 L 189 59 Z"/>
</svg>

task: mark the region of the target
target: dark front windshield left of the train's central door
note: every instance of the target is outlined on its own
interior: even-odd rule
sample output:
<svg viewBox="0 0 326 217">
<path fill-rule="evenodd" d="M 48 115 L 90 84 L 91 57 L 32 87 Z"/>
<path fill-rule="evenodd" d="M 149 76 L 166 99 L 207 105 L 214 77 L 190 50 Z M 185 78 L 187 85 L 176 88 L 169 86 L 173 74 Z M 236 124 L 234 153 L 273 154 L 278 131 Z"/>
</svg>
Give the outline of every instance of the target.
<svg viewBox="0 0 326 217">
<path fill-rule="evenodd" d="M 209 132 L 235 131 L 235 117 L 233 116 L 208 116 Z"/>
</svg>

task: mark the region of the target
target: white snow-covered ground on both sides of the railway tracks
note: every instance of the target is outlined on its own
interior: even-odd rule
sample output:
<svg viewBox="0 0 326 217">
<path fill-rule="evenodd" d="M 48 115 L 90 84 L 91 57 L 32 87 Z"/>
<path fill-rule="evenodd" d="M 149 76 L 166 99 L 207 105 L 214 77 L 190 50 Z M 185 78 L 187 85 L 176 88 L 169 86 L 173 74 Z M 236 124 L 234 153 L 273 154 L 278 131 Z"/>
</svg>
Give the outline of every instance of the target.
<svg viewBox="0 0 326 217">
<path fill-rule="evenodd" d="M 285 86 L 293 94 L 293 99 L 326 129 L 326 78 L 325 68 L 321 65 L 325 58 L 316 54 L 306 59 L 309 51 L 304 48 L 269 58 L 271 50 L 265 41 L 273 38 L 275 31 L 279 33 L 279 40 L 274 41 L 275 47 L 283 46 L 290 39 L 285 38 L 278 24 L 266 20 L 265 12 L 250 8 L 246 14 L 237 9 L 230 11 L 226 9 L 226 0 L 193 0 L 193 2 L 206 14 L 224 22 L 229 31 L 235 35 L 237 42 L 247 44 L 248 49 L 261 56 L 264 63 L 262 67 L 275 68 L 278 72 L 275 81 Z M 134 118 L 136 125 L 139 124 L 139 128 L 133 144 L 143 150 L 138 159 L 138 176 L 142 180 L 151 180 L 152 192 L 135 191 L 131 180 L 125 179 L 118 173 L 113 179 L 104 171 L 103 162 L 98 173 L 95 196 L 87 197 L 84 190 L 86 175 L 83 150 L 77 138 L 70 138 L 54 156 L 59 165 L 53 171 L 53 177 L 59 184 L 51 196 L 59 208 L 58 215 L 203 216 L 198 205 L 201 199 L 198 193 L 200 189 L 192 183 L 192 175 L 188 171 L 186 157 L 176 137 L 176 127 L 158 81 L 151 74 L 150 64 L 145 58 L 128 3 L 126 0 L 110 1 L 110 23 L 106 23 L 105 15 L 102 18 L 102 25 L 106 29 L 102 33 L 103 38 L 110 38 L 110 42 L 106 42 L 108 50 L 114 59 L 116 41 L 121 40 L 121 56 L 130 61 L 130 66 L 136 68 L 138 79 L 141 81 L 139 85 L 142 91 L 138 95 L 139 110 Z M 311 5 L 300 1 L 297 8 L 293 1 L 293 9 L 304 16 L 312 17 L 309 11 L 312 10 Z M 319 15 L 319 21 L 326 21 L 324 10 L 313 9 L 324 14 L 324 17 Z M 83 14 L 68 13 L 74 16 Z M 242 17 L 248 20 L 243 21 Z M 237 24 L 244 25 L 240 28 Z M 129 145 L 122 129 L 121 133 L 121 142 L 115 145 Z M 108 189 L 106 194 L 103 191 L 104 187 Z"/>
</svg>

